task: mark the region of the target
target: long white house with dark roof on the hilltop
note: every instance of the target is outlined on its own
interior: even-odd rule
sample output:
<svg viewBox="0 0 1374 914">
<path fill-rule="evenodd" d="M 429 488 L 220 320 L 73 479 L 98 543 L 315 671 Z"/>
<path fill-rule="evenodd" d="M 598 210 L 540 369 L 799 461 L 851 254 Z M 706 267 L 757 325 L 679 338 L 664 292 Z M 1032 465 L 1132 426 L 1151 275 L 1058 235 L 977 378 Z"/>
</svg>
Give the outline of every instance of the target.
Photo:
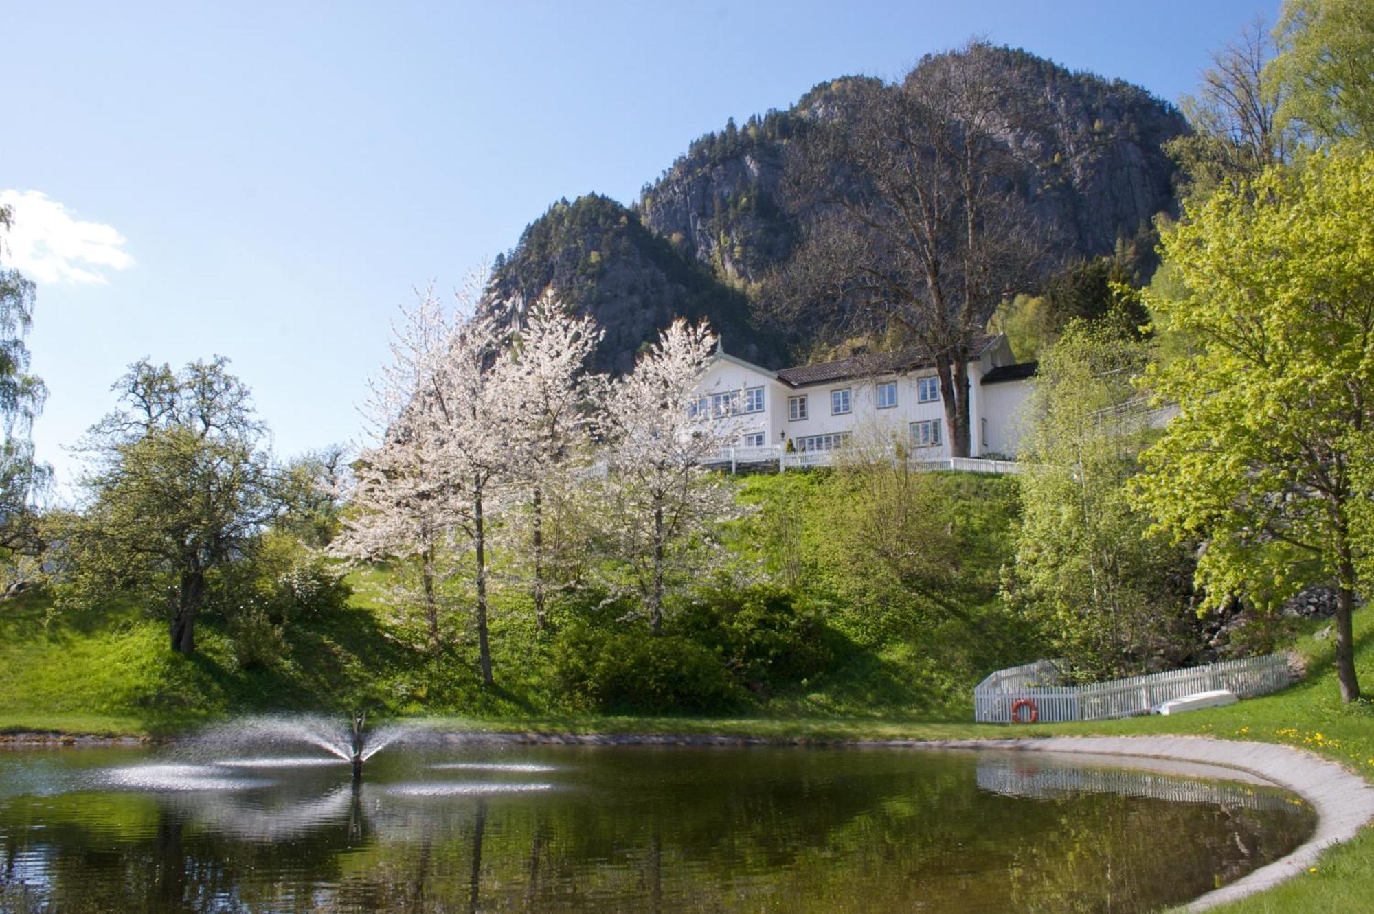
<svg viewBox="0 0 1374 914">
<path fill-rule="evenodd" d="M 971 457 L 1013 457 L 1018 413 L 1035 362 L 1015 364 L 1004 336 L 981 340 L 969 364 Z M 948 461 L 949 432 L 934 360 L 903 350 L 841 358 L 779 372 L 717 350 L 691 409 L 738 431 L 721 462 L 830 462 L 830 452 L 860 439 L 900 435 L 919 460 Z"/>
</svg>

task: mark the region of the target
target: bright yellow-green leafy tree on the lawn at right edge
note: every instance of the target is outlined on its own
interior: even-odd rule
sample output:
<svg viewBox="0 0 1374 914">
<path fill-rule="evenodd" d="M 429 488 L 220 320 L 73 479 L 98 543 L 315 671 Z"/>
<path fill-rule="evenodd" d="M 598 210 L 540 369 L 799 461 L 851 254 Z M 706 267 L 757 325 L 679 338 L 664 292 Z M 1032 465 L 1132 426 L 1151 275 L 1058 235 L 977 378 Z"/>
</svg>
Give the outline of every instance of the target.
<svg viewBox="0 0 1374 914">
<path fill-rule="evenodd" d="M 1220 189 L 1164 233 L 1186 295 L 1146 292 L 1194 347 L 1149 373 L 1180 414 L 1142 454 L 1138 504 L 1206 541 L 1204 608 L 1336 583 L 1341 697 L 1367 583 L 1374 419 L 1374 152 L 1318 154 Z"/>
</svg>

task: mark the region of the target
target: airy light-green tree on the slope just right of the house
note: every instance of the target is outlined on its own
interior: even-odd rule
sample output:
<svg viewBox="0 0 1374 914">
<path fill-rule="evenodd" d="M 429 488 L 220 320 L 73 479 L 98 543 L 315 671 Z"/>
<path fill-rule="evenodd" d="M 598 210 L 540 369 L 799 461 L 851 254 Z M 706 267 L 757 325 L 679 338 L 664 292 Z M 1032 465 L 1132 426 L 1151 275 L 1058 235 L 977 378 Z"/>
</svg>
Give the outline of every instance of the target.
<svg viewBox="0 0 1374 914">
<path fill-rule="evenodd" d="M 1125 483 L 1153 432 L 1134 379 L 1147 347 L 1074 323 L 1044 354 L 1022 442 L 1024 517 L 1006 582 L 1079 675 L 1139 672 L 1186 656 L 1191 559 L 1131 505 Z"/>
</svg>

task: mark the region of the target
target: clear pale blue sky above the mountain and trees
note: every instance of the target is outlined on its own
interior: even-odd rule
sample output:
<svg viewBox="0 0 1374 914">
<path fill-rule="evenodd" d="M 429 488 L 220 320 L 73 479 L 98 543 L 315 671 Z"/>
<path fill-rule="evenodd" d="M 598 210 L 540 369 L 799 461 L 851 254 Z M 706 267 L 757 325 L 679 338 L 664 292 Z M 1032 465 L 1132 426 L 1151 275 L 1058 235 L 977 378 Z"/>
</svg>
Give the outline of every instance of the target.
<svg viewBox="0 0 1374 914">
<path fill-rule="evenodd" d="M 27 257 L 33 368 L 51 391 L 38 454 L 70 478 L 63 446 L 143 355 L 228 355 L 282 454 L 350 441 L 412 285 L 456 285 L 561 196 L 633 200 L 728 117 L 841 74 L 897 77 L 974 34 L 1178 100 L 1210 49 L 1276 14 L 1276 0 L 0 0 L 0 192 L 21 222 L 7 259 L 26 261 L 34 233 L 51 254 Z"/>
</svg>

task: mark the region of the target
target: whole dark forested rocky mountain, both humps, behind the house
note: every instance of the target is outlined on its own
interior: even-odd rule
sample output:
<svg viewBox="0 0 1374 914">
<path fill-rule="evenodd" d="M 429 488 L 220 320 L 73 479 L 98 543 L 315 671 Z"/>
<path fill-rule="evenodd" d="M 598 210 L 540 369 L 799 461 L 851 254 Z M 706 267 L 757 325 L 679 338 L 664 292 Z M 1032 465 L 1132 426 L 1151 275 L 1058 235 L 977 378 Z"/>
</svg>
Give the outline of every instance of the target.
<svg viewBox="0 0 1374 914">
<path fill-rule="evenodd" d="M 1176 210 L 1175 165 L 1161 148 L 1187 132 L 1173 106 L 1025 51 L 996 54 L 1011 74 L 999 134 L 1029 163 L 1029 203 L 1061 239 L 1057 259 L 1110 254 L 1120 239 L 1147 233 L 1157 213 Z M 808 187 L 798 165 L 808 128 L 842 126 L 874 84 L 841 77 L 786 111 L 730 121 L 692 141 L 633 210 L 602 196 L 555 203 L 497 265 L 496 292 L 537 295 L 552 283 L 607 328 L 598 358 L 613 371 L 628 368 L 673 316 L 709 318 L 730 351 L 771 366 L 838 342 L 844 316 L 822 292 L 778 318 L 765 288 L 807 220 L 829 204 L 827 188 Z"/>
</svg>

